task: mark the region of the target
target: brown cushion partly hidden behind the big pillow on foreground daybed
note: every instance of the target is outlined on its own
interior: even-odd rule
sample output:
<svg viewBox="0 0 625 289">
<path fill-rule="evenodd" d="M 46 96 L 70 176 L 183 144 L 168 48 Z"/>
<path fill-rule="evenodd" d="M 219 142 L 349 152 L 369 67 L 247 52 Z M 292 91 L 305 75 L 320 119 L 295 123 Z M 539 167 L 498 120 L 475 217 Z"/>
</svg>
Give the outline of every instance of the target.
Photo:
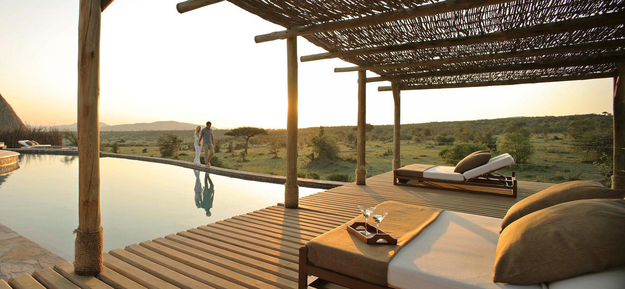
<svg viewBox="0 0 625 289">
<path fill-rule="evenodd" d="M 563 202 L 584 199 L 622 199 L 623 197 L 625 197 L 625 190 L 609 189 L 599 181 L 562 182 L 526 197 L 510 207 L 501 222 L 501 230 L 522 216 Z"/>
</svg>

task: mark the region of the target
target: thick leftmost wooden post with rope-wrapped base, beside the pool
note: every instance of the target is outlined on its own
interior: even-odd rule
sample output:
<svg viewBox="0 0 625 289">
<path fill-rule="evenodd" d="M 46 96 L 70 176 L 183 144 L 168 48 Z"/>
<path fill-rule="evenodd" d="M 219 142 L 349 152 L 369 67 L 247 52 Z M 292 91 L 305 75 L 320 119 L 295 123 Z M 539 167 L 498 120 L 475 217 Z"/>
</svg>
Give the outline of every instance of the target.
<svg viewBox="0 0 625 289">
<path fill-rule="evenodd" d="M 78 229 L 74 270 L 103 268 L 100 226 L 100 20 L 101 0 L 81 0 L 78 16 Z"/>
</svg>

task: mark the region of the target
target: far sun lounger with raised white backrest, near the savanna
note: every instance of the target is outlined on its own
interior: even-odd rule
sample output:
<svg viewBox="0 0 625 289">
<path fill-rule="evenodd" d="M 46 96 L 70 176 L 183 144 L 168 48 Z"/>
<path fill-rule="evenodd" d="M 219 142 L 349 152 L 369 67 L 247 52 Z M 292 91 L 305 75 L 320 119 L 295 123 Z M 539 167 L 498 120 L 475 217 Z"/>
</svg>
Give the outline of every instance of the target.
<svg viewBox="0 0 625 289">
<path fill-rule="evenodd" d="M 501 154 L 491 158 L 488 163 L 470 169 L 464 173 L 454 173 L 452 166 L 431 166 L 424 170 L 424 165 L 414 164 L 393 171 L 393 182 L 401 186 L 423 186 L 433 189 L 471 192 L 473 194 L 492 194 L 496 196 L 516 197 L 516 178 L 502 176 L 496 172 L 514 163 L 510 154 Z"/>
</svg>

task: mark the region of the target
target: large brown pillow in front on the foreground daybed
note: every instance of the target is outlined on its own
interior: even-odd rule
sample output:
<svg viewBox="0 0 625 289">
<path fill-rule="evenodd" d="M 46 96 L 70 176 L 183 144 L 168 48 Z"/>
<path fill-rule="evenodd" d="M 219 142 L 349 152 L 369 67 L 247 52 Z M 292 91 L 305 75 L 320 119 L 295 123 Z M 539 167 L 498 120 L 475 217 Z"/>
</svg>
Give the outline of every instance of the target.
<svg viewBox="0 0 625 289">
<path fill-rule="evenodd" d="M 565 202 L 522 217 L 499 236 L 493 282 L 552 282 L 625 264 L 625 199 Z"/>
</svg>

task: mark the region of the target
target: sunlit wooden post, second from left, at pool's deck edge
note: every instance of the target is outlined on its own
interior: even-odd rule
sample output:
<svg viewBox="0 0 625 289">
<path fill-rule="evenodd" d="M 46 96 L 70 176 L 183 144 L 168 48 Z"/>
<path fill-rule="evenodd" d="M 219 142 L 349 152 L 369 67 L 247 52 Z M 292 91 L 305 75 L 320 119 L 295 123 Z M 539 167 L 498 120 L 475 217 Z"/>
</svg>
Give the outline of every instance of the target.
<svg viewBox="0 0 625 289">
<path fill-rule="evenodd" d="M 297 209 L 297 37 L 286 39 L 287 116 L 286 116 L 286 184 L 284 207 Z"/>
</svg>

